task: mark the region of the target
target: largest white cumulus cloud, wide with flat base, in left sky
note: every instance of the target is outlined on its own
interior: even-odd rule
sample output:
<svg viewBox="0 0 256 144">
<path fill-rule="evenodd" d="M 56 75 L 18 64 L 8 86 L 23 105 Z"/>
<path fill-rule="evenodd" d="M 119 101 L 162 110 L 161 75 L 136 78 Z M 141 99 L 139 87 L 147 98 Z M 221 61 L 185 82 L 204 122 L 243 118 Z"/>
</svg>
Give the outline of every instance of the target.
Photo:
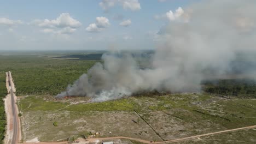
<svg viewBox="0 0 256 144">
<path fill-rule="evenodd" d="M 71 34 L 77 30 L 82 23 L 73 19 L 68 13 L 62 13 L 55 20 L 33 20 L 30 25 L 42 27 L 43 33 Z"/>
</svg>

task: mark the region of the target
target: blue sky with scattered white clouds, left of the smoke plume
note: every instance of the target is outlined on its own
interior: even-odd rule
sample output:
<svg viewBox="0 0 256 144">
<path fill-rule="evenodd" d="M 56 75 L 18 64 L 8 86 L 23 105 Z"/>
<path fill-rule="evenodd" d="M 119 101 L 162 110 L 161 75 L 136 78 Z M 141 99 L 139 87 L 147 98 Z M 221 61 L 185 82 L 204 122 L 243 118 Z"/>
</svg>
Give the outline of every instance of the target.
<svg viewBox="0 0 256 144">
<path fill-rule="evenodd" d="M 0 1 L 0 50 L 154 49 L 166 13 L 195 2 Z"/>
</svg>

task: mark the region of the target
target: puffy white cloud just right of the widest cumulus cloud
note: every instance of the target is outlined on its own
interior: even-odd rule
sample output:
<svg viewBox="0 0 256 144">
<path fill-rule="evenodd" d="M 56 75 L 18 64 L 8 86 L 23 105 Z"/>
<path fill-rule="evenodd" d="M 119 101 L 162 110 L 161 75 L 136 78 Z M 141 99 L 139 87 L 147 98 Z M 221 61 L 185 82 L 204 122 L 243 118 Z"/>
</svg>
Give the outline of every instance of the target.
<svg viewBox="0 0 256 144">
<path fill-rule="evenodd" d="M 106 17 L 96 17 L 96 22 L 91 23 L 85 30 L 88 32 L 101 32 L 110 26 L 110 22 Z"/>
</svg>

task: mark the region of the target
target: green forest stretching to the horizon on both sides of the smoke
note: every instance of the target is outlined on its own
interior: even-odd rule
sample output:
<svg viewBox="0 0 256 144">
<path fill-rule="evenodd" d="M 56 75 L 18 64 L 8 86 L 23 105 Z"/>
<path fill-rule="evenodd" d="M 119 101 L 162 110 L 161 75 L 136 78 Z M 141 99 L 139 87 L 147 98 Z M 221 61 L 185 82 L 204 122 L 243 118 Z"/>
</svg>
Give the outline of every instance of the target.
<svg viewBox="0 0 256 144">
<path fill-rule="evenodd" d="M 108 54 L 108 53 L 107 53 Z M 106 54 L 106 55 L 107 55 Z M 147 67 L 147 62 L 154 54 L 153 51 L 132 53 L 137 58 L 141 68 Z M 17 88 L 17 95 L 48 94 L 56 95 L 65 91 L 68 84 L 72 84 L 80 75 L 87 73 L 96 62 L 102 62 L 103 53 L 69 53 L 65 56 L 49 53 L 55 57 L 75 57 L 79 60 L 54 59 L 47 55 L 13 55 L 0 56 L 0 71 L 5 76 L 5 71 L 12 71 Z M 123 53 L 117 56 L 123 56 Z M 139 59 L 141 58 L 142 59 Z M 81 58 L 81 59 L 80 59 Z M 86 61 L 84 59 L 94 59 Z M 254 67 L 252 62 L 232 63 L 235 73 L 241 73 L 238 65 L 250 70 Z M 3 79 L 5 81 L 5 78 Z M 236 80 L 207 80 L 202 81 L 202 90 L 207 93 L 219 95 L 233 95 L 236 97 L 256 98 L 256 82 L 249 79 Z M 5 87 L 4 87 L 5 89 Z"/>
</svg>

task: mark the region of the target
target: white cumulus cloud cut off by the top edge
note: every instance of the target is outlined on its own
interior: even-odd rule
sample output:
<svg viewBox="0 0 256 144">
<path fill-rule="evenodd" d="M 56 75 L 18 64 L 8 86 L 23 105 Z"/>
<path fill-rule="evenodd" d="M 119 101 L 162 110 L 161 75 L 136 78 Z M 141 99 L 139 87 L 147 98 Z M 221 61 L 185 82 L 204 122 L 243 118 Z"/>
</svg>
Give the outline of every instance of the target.
<svg viewBox="0 0 256 144">
<path fill-rule="evenodd" d="M 103 0 L 99 3 L 100 7 L 105 11 L 108 11 L 116 4 L 122 5 L 123 9 L 130 9 L 133 11 L 141 9 L 141 4 L 138 0 Z"/>
</svg>

